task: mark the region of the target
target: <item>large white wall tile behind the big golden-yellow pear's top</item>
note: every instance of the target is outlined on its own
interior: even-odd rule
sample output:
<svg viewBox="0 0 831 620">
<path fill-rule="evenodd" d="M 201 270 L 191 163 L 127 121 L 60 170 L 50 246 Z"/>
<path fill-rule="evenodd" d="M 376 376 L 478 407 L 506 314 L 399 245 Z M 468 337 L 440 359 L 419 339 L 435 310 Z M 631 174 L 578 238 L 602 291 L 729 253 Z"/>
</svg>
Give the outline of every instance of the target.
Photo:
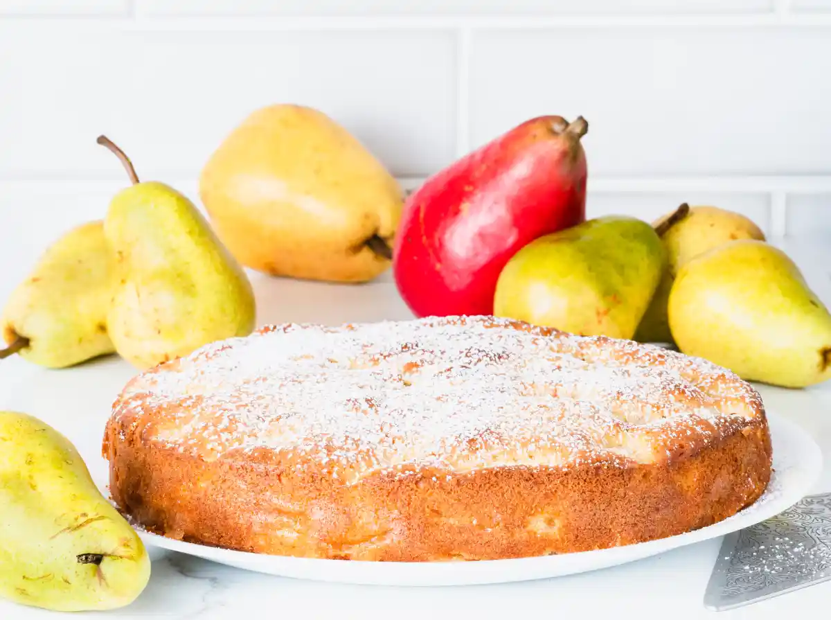
<svg viewBox="0 0 831 620">
<path fill-rule="evenodd" d="M 15 93 L 3 97 L 0 135 L 14 148 L 0 150 L 0 175 L 117 174 L 101 132 L 140 175 L 195 175 L 244 116 L 277 102 L 325 111 L 394 173 L 420 175 L 454 155 L 455 85 L 452 32 L 78 37 L 0 22 L 0 92 Z"/>
</svg>

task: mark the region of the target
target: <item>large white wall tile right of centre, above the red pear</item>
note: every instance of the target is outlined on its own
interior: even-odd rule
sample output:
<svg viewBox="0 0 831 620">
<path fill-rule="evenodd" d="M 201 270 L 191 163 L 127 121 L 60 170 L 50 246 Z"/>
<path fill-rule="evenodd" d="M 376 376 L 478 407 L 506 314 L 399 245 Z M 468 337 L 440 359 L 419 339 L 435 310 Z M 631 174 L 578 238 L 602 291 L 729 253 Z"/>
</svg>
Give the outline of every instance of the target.
<svg viewBox="0 0 831 620">
<path fill-rule="evenodd" d="M 581 114 L 590 174 L 831 172 L 831 30 L 478 32 L 471 59 L 474 144 Z"/>
</svg>

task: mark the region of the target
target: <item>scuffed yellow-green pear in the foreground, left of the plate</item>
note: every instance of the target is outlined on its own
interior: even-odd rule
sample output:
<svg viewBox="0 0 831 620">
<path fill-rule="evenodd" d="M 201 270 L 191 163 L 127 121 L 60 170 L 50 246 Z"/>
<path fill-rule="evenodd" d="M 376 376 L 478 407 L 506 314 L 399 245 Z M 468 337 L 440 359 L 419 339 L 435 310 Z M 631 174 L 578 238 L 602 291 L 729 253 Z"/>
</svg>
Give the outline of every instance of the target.
<svg viewBox="0 0 831 620">
<path fill-rule="evenodd" d="M 56 611 L 114 609 L 149 578 L 144 544 L 70 441 L 0 411 L 0 596 Z"/>
</svg>

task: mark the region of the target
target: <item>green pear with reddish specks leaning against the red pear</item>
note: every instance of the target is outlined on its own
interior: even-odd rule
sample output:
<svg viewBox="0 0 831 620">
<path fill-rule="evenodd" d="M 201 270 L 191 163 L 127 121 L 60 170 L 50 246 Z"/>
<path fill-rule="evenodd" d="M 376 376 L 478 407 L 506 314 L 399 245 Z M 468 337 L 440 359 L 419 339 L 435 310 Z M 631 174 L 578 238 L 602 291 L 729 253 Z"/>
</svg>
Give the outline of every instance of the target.
<svg viewBox="0 0 831 620">
<path fill-rule="evenodd" d="M 661 239 L 626 216 L 532 241 L 499 274 L 494 314 L 584 336 L 631 338 L 664 268 Z"/>
</svg>

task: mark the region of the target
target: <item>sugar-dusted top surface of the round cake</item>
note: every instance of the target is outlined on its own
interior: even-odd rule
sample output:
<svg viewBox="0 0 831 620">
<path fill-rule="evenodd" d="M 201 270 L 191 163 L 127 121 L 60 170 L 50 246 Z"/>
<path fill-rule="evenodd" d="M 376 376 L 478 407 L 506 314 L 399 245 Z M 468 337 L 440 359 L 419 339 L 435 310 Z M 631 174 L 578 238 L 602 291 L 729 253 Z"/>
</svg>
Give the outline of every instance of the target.
<svg viewBox="0 0 831 620">
<path fill-rule="evenodd" d="M 671 460 L 764 416 L 724 368 L 494 317 L 284 324 L 136 376 L 122 433 L 205 460 L 374 472 Z"/>
</svg>

